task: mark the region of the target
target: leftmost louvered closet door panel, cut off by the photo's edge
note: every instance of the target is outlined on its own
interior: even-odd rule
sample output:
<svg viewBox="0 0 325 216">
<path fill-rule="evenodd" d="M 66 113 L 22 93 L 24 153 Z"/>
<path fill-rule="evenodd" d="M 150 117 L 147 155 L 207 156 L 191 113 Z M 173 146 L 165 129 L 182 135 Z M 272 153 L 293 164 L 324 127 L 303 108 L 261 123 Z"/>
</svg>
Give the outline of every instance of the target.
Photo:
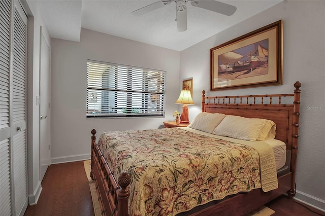
<svg viewBox="0 0 325 216">
<path fill-rule="evenodd" d="M 0 215 L 11 215 L 10 0 L 0 1 Z"/>
</svg>

